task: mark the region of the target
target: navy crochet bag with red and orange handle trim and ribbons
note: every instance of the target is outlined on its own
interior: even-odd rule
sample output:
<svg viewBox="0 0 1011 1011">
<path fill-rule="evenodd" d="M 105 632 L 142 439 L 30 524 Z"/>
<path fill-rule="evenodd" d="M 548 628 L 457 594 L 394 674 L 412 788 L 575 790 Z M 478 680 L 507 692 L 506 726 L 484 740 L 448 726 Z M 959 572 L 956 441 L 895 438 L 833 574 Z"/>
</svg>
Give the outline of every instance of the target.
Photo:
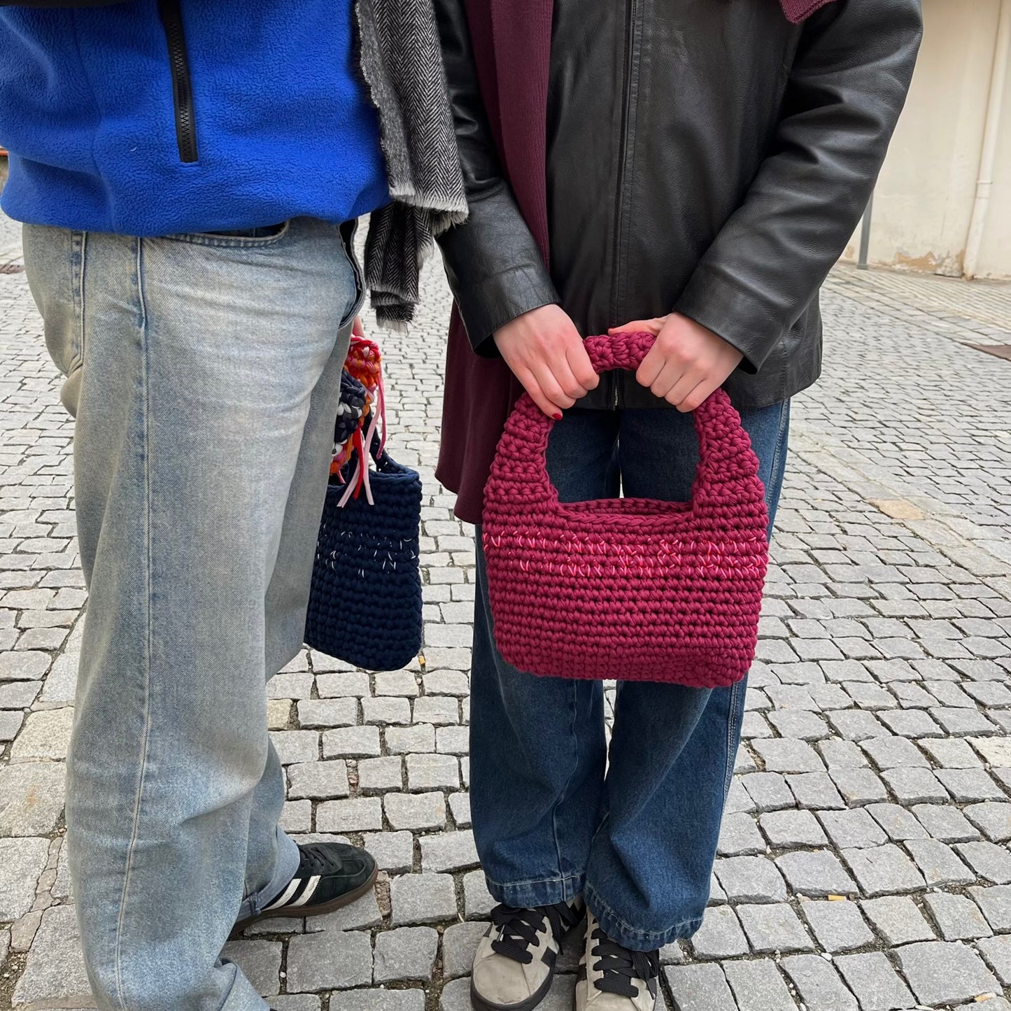
<svg viewBox="0 0 1011 1011">
<path fill-rule="evenodd" d="M 305 641 L 366 670 L 397 670 L 422 648 L 422 479 L 386 452 L 385 430 L 379 350 L 353 338 Z"/>
</svg>

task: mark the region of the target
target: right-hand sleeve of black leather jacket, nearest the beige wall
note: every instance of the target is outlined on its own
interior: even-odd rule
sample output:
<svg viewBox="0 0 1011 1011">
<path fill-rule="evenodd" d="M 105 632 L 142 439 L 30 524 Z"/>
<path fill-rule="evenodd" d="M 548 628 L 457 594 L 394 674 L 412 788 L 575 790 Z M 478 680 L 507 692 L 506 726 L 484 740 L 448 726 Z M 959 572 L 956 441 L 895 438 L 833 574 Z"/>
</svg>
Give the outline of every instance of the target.
<svg viewBox="0 0 1011 1011">
<path fill-rule="evenodd" d="M 818 292 L 874 189 L 905 103 L 920 0 L 840 0 L 806 24 L 772 148 L 674 309 L 757 372 Z"/>
</svg>

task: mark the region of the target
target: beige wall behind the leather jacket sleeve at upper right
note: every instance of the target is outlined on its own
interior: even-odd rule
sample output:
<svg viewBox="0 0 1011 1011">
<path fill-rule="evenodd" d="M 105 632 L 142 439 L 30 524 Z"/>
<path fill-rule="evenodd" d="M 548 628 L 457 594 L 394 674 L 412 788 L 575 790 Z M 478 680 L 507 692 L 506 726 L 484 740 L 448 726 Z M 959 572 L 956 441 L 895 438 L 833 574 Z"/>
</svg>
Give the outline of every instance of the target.
<svg viewBox="0 0 1011 1011">
<path fill-rule="evenodd" d="M 919 64 L 875 193 L 874 264 L 962 272 L 1000 5 L 1001 0 L 923 0 Z M 1001 118 L 980 277 L 1011 277 L 1011 94 Z M 844 259 L 855 259 L 858 240 L 859 233 Z"/>
</svg>

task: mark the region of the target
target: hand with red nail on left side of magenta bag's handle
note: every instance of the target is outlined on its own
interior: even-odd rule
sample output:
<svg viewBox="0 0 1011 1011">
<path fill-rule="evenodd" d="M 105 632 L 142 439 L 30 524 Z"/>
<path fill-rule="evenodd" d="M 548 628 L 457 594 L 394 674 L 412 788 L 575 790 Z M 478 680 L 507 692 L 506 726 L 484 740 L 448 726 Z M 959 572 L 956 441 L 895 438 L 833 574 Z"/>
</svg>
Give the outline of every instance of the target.
<svg viewBox="0 0 1011 1011">
<path fill-rule="evenodd" d="M 575 324 L 558 305 L 517 316 L 495 331 L 494 341 L 534 403 L 556 421 L 601 381 Z"/>
</svg>

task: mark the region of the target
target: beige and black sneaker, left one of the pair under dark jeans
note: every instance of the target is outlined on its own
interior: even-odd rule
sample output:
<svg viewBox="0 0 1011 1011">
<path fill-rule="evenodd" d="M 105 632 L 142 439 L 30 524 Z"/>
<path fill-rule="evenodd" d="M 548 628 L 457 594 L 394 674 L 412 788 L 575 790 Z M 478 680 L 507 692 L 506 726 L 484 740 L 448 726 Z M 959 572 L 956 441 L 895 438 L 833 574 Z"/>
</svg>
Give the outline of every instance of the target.
<svg viewBox="0 0 1011 1011">
<path fill-rule="evenodd" d="M 582 922 L 582 899 L 514 909 L 495 906 L 470 977 L 478 1011 L 533 1011 L 547 996 L 562 939 Z"/>
</svg>

